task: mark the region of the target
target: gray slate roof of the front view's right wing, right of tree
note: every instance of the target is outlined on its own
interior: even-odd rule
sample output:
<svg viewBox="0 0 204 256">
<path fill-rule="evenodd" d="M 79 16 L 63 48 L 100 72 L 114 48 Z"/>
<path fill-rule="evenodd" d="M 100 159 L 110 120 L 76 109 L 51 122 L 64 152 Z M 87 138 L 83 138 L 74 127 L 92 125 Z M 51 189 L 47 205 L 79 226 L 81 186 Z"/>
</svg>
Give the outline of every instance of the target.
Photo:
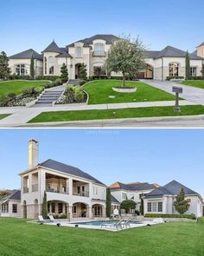
<svg viewBox="0 0 204 256">
<path fill-rule="evenodd" d="M 161 51 L 146 51 L 145 55 L 153 59 L 158 59 L 161 57 L 186 57 L 186 51 L 183 51 L 182 49 L 177 49 L 172 46 L 167 46 Z M 189 57 L 191 60 L 203 60 L 203 58 L 197 56 L 195 52 L 189 54 Z"/>
</svg>

